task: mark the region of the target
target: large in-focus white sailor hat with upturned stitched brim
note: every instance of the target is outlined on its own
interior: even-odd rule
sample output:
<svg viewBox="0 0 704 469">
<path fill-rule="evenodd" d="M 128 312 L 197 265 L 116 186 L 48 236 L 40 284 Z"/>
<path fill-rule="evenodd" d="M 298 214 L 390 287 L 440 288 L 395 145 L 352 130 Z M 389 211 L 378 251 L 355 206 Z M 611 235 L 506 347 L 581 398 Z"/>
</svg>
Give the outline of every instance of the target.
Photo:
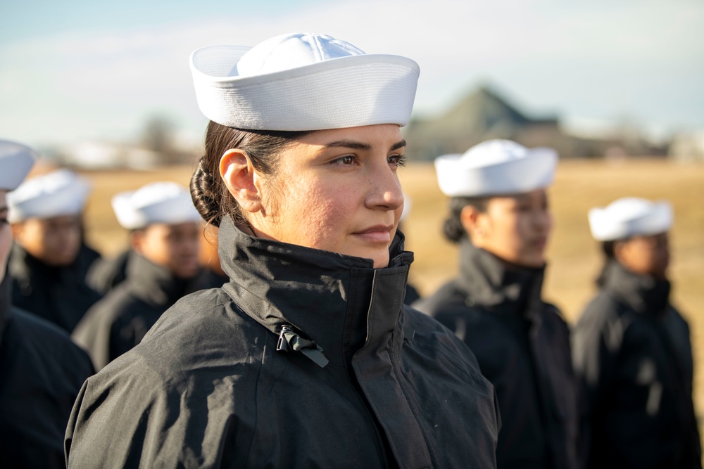
<svg viewBox="0 0 704 469">
<path fill-rule="evenodd" d="M 306 131 L 406 125 L 420 74 L 406 57 L 366 54 L 322 34 L 191 54 L 201 112 L 227 127 Z"/>
</svg>

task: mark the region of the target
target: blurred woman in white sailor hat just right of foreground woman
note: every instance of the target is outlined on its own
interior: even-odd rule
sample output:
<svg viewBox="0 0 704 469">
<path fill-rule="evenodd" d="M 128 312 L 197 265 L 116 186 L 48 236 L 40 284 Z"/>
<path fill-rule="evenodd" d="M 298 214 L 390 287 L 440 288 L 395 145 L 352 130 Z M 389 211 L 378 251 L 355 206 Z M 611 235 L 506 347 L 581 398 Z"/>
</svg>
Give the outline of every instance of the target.
<svg viewBox="0 0 704 469">
<path fill-rule="evenodd" d="M 577 387 L 569 333 L 541 298 L 552 229 L 547 187 L 558 156 L 513 141 L 435 160 L 460 245 L 460 275 L 414 303 L 472 349 L 496 387 L 498 467 L 577 468 Z"/>
</svg>

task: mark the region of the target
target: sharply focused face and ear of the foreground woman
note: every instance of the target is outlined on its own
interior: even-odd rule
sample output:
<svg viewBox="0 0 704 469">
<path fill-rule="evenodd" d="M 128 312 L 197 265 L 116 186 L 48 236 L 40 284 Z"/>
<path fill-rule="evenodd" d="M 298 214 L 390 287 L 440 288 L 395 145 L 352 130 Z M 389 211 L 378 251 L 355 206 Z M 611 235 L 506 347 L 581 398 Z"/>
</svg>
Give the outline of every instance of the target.
<svg viewBox="0 0 704 469">
<path fill-rule="evenodd" d="M 396 171 L 405 146 L 394 124 L 315 131 L 284 150 L 277 174 L 253 176 L 259 200 L 233 184 L 229 152 L 220 172 L 257 236 L 365 257 L 380 268 L 389 264 L 403 211 Z"/>
</svg>

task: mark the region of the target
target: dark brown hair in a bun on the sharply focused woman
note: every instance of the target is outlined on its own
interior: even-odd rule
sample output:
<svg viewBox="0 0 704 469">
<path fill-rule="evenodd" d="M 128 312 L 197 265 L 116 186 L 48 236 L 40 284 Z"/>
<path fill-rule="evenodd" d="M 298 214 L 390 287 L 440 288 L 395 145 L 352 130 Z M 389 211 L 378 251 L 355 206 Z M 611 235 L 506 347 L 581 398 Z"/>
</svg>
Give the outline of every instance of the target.
<svg viewBox="0 0 704 469">
<path fill-rule="evenodd" d="M 206 130 L 206 154 L 201 156 L 191 176 L 191 198 L 201 217 L 220 226 L 222 217 L 230 215 L 236 223 L 246 222 L 237 200 L 234 200 L 220 177 L 220 158 L 227 150 L 244 150 L 254 169 L 275 175 L 280 153 L 293 141 L 310 131 L 241 130 L 210 121 Z"/>
</svg>

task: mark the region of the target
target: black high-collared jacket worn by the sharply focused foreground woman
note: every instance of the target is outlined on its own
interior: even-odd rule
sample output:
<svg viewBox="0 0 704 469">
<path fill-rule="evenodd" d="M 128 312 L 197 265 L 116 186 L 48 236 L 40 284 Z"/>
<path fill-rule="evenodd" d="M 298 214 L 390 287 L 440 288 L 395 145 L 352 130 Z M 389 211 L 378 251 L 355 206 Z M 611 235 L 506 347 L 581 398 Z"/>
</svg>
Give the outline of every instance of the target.
<svg viewBox="0 0 704 469">
<path fill-rule="evenodd" d="M 230 219 L 219 236 L 236 280 L 182 299 L 87 381 L 70 467 L 495 466 L 491 384 L 462 342 L 403 306 L 413 253 L 394 245 L 373 269 Z"/>
</svg>

